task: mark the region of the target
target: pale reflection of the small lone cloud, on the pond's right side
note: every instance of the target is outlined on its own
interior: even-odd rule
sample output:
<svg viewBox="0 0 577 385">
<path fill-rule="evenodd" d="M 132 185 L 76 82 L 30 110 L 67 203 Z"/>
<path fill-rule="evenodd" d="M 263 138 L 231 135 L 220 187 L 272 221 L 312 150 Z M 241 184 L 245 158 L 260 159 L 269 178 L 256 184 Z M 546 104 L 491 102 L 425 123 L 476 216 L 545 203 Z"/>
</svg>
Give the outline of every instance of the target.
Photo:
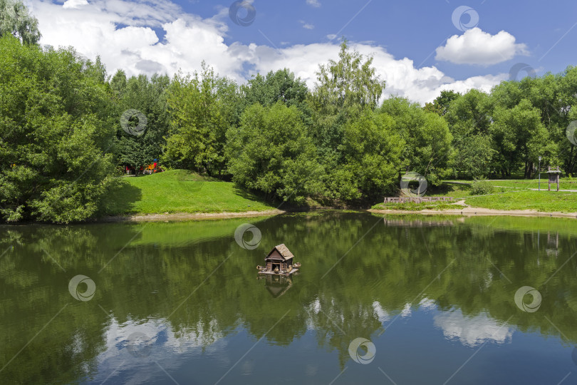
<svg viewBox="0 0 577 385">
<path fill-rule="evenodd" d="M 459 342 L 469 347 L 487 341 L 503 344 L 513 335 L 512 329 L 502 326 L 487 314 L 465 317 L 461 309 L 435 315 L 435 326 L 442 329 L 448 339 L 459 339 Z"/>
</svg>

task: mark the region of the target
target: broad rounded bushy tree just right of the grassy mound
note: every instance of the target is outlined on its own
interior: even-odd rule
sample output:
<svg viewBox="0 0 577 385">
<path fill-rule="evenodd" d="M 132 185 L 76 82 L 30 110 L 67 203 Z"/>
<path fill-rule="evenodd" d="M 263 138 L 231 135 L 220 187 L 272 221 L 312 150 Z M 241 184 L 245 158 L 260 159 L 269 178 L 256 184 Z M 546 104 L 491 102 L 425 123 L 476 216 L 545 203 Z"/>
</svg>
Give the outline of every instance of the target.
<svg viewBox="0 0 577 385">
<path fill-rule="evenodd" d="M 320 190 L 321 167 L 301 113 L 283 103 L 247 108 L 227 133 L 232 180 L 269 197 L 302 203 Z"/>
</svg>

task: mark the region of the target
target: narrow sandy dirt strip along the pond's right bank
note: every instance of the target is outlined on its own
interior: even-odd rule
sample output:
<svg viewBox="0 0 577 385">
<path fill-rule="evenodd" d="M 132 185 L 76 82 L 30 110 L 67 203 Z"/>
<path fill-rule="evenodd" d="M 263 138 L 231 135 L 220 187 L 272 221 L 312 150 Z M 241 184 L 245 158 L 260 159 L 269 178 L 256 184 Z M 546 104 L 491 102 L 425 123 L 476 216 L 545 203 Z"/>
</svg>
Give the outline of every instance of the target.
<svg viewBox="0 0 577 385">
<path fill-rule="evenodd" d="M 460 203 L 460 202 L 457 202 Z M 577 218 L 577 212 L 542 212 L 535 210 L 493 210 L 480 207 L 464 206 L 449 210 L 369 210 L 377 214 L 422 214 L 422 215 L 511 215 L 516 217 L 565 217 Z"/>
</svg>

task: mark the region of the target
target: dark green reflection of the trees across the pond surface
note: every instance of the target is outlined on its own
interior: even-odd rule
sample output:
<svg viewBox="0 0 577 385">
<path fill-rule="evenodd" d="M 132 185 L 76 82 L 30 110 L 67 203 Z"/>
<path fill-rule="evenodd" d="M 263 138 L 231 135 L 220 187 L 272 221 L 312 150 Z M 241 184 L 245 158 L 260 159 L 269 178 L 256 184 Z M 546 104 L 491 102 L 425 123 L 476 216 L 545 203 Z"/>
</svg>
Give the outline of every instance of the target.
<svg viewBox="0 0 577 385">
<path fill-rule="evenodd" d="M 558 254 L 552 254 L 546 252 L 552 236 L 548 241 L 542 232 L 495 230 L 477 218 L 474 225 L 448 221 L 455 225 L 442 220 L 442 225 L 421 227 L 406 220 L 385 226 L 370 215 L 274 217 L 251 221 L 263 235 L 256 250 L 234 242 L 234 230 L 246 220 L 8 227 L 0 250 L 15 249 L 0 260 L 0 362 L 8 362 L 69 305 L 2 374 L 33 382 L 51 379 L 45 375 L 63 382 L 83 378 L 106 349 L 103 326 L 110 317 L 103 309 L 119 324 L 167 319 L 175 336 L 197 336 L 204 346 L 236 327 L 255 339 L 266 334 L 281 346 L 314 329 L 321 347 L 339 352 L 341 365 L 349 359 L 350 341 L 383 331 L 383 312 L 395 317 L 425 297 L 440 310 L 458 308 L 469 319 L 483 314 L 500 324 L 513 316 L 510 324 L 522 331 L 558 336 L 546 315 L 567 342 L 577 342 L 571 326 L 577 302 L 569 294 L 576 289 L 576 260 L 547 282 L 574 252 L 568 235 L 555 234 Z M 274 297 L 258 281 L 254 266 L 283 242 L 303 267 L 292 287 Z M 68 280 L 76 274 L 94 279 L 97 292 L 90 302 L 78 302 L 68 293 Z M 513 301 L 525 284 L 543 294 L 533 314 L 521 312 Z"/>
</svg>

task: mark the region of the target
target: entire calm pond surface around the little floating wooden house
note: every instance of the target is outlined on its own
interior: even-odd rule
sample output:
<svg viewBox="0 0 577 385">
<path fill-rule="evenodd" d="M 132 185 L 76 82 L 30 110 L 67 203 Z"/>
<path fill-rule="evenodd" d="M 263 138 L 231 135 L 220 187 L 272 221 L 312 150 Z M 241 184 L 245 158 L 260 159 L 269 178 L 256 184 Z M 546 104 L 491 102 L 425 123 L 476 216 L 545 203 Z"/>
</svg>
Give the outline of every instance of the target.
<svg viewBox="0 0 577 385">
<path fill-rule="evenodd" d="M 0 383 L 576 384 L 576 233 L 335 212 L 2 226 Z M 258 279 L 280 243 L 300 274 Z"/>
</svg>

